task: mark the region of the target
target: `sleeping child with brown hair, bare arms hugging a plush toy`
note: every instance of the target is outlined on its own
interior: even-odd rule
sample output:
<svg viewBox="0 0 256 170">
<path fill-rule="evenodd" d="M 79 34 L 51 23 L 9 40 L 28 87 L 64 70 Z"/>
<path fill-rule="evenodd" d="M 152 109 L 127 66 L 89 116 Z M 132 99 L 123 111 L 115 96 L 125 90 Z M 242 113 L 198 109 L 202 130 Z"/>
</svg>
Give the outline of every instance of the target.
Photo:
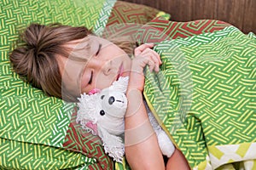
<svg viewBox="0 0 256 170">
<path fill-rule="evenodd" d="M 76 102 L 80 94 L 108 88 L 119 77 L 129 76 L 125 157 L 130 167 L 189 169 L 178 149 L 165 164 L 148 121 L 143 102 L 143 70 L 148 65 L 150 71 L 160 71 L 160 54 L 152 50 L 154 44 L 133 48 L 130 42 L 118 42 L 116 45 L 96 37 L 83 26 L 38 24 L 26 28 L 22 41 L 25 43 L 10 54 L 14 70 L 49 96 Z M 128 54 L 134 54 L 134 59 Z"/>
</svg>

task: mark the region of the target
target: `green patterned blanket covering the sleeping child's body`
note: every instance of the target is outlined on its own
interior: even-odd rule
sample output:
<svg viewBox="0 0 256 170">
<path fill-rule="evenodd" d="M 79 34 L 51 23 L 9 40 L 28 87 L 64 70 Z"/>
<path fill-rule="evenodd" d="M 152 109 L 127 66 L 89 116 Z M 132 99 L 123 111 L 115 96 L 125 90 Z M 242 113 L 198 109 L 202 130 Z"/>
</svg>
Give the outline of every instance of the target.
<svg viewBox="0 0 256 170">
<path fill-rule="evenodd" d="M 166 40 L 155 50 L 163 64 L 158 74 L 146 71 L 144 96 L 190 167 L 255 169 L 253 33 L 228 26 Z"/>
</svg>

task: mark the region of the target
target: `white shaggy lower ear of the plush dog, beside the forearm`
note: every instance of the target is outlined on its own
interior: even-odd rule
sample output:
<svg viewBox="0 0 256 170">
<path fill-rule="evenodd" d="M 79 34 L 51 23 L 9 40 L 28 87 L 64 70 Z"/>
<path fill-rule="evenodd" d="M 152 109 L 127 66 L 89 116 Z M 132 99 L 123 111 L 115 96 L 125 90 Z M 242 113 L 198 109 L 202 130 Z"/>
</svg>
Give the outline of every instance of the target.
<svg viewBox="0 0 256 170">
<path fill-rule="evenodd" d="M 114 161 L 122 163 L 123 156 L 125 155 L 125 144 L 118 136 L 108 133 L 102 127 L 98 127 L 99 136 L 102 139 L 104 150 L 109 156 L 113 157 Z"/>
</svg>

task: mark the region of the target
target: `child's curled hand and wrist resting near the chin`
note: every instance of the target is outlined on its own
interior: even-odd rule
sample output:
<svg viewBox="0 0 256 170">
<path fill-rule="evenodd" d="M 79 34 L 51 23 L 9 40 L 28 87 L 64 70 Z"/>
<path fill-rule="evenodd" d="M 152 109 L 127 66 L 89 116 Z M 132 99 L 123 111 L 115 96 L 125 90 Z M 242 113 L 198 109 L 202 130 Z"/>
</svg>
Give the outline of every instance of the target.
<svg viewBox="0 0 256 170">
<path fill-rule="evenodd" d="M 143 92 L 144 87 L 144 74 L 143 70 L 146 65 L 149 66 L 150 71 L 160 71 L 160 65 L 162 64 L 160 54 L 156 53 L 153 49 L 153 43 L 145 43 L 135 48 L 135 58 L 131 62 L 130 73 L 130 88 L 136 88 Z"/>
</svg>

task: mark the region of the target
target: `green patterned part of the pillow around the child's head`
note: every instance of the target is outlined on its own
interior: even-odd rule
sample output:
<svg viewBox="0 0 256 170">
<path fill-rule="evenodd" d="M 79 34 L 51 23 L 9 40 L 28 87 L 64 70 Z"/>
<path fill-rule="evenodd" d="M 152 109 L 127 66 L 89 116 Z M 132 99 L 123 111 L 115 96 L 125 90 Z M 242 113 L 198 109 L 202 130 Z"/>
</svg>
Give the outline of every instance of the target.
<svg viewBox="0 0 256 170">
<path fill-rule="evenodd" d="M 45 96 L 20 80 L 11 69 L 9 52 L 19 32 L 31 23 L 86 26 L 100 34 L 114 3 L 0 0 L 0 167 L 60 169 L 96 162 L 93 157 L 62 149 L 74 105 Z"/>
</svg>

